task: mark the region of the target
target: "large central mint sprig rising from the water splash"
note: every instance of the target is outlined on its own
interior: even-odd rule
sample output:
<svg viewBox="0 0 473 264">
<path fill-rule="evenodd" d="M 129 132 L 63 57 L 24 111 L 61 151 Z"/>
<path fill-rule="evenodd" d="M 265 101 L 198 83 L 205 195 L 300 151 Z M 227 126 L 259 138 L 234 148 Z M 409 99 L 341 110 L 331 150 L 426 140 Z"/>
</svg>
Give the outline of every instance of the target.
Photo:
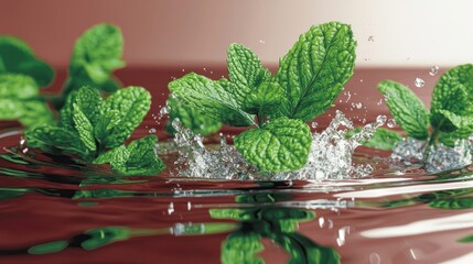
<svg viewBox="0 0 473 264">
<path fill-rule="evenodd" d="M 268 172 L 305 165 L 312 135 L 304 122 L 333 106 L 353 75 L 356 41 L 350 25 L 312 26 L 280 59 L 275 76 L 240 44 L 227 52 L 228 77 L 195 73 L 169 84 L 172 94 L 202 114 L 233 127 L 250 127 L 235 146 Z"/>
</svg>

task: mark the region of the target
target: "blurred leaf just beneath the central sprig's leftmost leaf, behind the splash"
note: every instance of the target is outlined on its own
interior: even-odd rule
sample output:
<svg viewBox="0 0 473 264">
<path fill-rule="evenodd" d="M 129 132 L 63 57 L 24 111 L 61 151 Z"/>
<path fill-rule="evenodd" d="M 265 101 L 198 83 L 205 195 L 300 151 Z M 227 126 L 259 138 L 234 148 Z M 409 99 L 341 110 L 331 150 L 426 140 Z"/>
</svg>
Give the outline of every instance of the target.
<svg viewBox="0 0 473 264">
<path fill-rule="evenodd" d="M 166 124 L 166 130 L 170 133 L 175 133 L 175 130 L 172 128 L 171 123 L 176 118 L 179 118 L 185 128 L 192 130 L 192 132 L 196 134 L 208 135 L 217 132 L 222 128 L 221 122 L 208 118 L 207 116 L 201 113 L 197 109 L 187 106 L 185 102 L 174 98 L 173 96 L 168 98 L 166 105 L 171 108 Z"/>
</svg>

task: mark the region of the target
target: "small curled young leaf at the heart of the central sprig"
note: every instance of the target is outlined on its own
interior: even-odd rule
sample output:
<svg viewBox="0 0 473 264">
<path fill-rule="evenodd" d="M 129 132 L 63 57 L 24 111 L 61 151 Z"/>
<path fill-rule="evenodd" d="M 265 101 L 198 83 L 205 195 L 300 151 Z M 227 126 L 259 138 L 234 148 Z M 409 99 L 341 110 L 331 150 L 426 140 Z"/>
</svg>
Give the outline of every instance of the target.
<svg viewBox="0 0 473 264">
<path fill-rule="evenodd" d="M 248 92 L 243 109 L 252 114 L 271 116 L 279 111 L 284 97 L 284 90 L 278 82 L 264 82 Z"/>
</svg>

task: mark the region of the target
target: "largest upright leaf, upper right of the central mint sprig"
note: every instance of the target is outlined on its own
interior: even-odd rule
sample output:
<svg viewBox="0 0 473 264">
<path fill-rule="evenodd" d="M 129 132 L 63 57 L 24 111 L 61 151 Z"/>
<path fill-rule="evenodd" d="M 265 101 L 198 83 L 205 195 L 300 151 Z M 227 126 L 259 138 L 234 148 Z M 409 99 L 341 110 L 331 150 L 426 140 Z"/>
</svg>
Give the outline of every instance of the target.
<svg viewBox="0 0 473 264">
<path fill-rule="evenodd" d="M 352 29 L 338 22 L 302 34 L 276 74 L 289 99 L 284 116 L 309 121 L 332 107 L 353 75 L 355 47 Z"/>
</svg>

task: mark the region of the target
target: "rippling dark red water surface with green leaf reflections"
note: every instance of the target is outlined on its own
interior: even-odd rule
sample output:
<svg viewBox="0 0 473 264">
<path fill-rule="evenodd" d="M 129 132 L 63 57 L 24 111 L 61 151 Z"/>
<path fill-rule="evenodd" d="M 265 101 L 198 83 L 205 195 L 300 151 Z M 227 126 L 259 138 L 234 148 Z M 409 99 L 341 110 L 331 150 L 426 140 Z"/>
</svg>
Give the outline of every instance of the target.
<svg viewBox="0 0 473 264">
<path fill-rule="evenodd" d="M 164 77 L 180 70 L 119 74 L 126 85 L 154 89 L 157 113 Z M 362 101 L 367 108 L 350 116 L 373 121 L 386 113 L 375 82 L 388 76 L 413 81 L 421 74 L 358 70 L 347 85 L 351 99 L 341 95 L 336 108 L 350 112 L 351 102 Z M 419 92 L 430 94 L 433 82 L 426 78 Z M 331 113 L 318 120 L 321 128 Z M 136 135 L 162 124 L 150 119 Z M 0 263 L 473 262 L 473 167 L 439 175 L 398 170 L 379 158 L 388 152 L 361 148 L 355 161 L 376 170 L 352 180 L 119 177 L 25 151 L 21 131 L 8 129 L 14 125 L 0 123 Z M 162 158 L 171 165 L 174 156 Z"/>
</svg>

